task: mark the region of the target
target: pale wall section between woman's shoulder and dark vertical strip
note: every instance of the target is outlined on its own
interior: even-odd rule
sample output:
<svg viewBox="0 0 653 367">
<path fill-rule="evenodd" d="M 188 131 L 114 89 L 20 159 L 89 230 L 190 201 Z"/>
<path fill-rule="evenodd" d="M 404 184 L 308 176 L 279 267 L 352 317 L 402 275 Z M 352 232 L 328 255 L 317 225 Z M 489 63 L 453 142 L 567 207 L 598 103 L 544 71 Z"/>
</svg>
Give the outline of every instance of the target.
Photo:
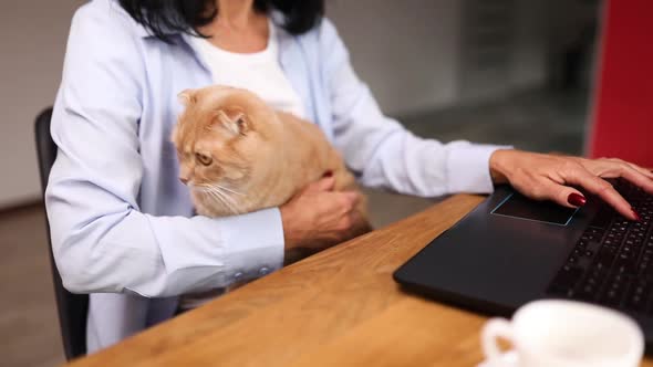
<svg viewBox="0 0 653 367">
<path fill-rule="evenodd" d="M 456 102 L 458 0 L 333 0 L 326 15 L 387 114 Z"/>
</svg>

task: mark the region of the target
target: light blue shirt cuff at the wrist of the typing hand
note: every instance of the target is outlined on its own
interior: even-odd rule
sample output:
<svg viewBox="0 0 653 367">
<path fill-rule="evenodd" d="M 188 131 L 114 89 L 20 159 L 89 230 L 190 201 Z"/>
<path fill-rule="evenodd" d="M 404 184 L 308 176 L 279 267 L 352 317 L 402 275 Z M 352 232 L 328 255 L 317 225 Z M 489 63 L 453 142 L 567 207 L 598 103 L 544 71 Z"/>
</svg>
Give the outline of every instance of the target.
<svg viewBox="0 0 653 367">
<path fill-rule="evenodd" d="M 495 187 L 489 170 L 489 159 L 498 149 L 512 149 L 512 147 L 469 145 L 452 151 L 447 159 L 448 192 L 493 192 Z"/>
</svg>

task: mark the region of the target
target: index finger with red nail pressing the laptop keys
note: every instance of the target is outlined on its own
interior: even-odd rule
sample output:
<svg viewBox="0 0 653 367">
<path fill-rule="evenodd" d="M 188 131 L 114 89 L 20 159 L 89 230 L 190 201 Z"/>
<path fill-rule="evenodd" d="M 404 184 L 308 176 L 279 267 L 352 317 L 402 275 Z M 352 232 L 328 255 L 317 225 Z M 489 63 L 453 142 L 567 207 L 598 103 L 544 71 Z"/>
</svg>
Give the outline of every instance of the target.
<svg viewBox="0 0 653 367">
<path fill-rule="evenodd" d="M 583 187 L 589 192 L 600 197 L 614 208 L 620 214 L 631 220 L 639 220 L 631 205 L 604 179 L 590 174 L 587 169 L 579 167 L 570 172 L 564 172 L 564 181 L 570 185 Z"/>
</svg>

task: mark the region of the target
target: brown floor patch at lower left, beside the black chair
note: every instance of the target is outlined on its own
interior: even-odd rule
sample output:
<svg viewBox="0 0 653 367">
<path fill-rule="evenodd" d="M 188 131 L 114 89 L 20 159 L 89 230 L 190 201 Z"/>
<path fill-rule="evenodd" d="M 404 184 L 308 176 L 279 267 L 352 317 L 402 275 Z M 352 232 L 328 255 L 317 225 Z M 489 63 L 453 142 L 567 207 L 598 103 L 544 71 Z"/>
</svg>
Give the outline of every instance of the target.
<svg viewBox="0 0 653 367">
<path fill-rule="evenodd" d="M 41 206 L 0 214 L 0 365 L 60 365 L 63 350 Z"/>
</svg>

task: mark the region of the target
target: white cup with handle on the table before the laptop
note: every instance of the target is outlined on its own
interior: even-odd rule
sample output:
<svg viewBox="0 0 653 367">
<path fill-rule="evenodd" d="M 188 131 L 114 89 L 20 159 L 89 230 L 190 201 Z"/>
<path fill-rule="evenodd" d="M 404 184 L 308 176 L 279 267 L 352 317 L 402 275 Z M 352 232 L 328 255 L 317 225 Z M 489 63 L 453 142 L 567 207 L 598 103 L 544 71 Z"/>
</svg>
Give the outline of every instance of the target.
<svg viewBox="0 0 653 367">
<path fill-rule="evenodd" d="M 520 307 L 512 321 L 491 318 L 481 334 L 489 365 L 500 365 L 497 338 L 510 342 L 519 367 L 635 367 L 644 335 L 630 317 L 581 302 L 542 300 Z"/>
</svg>

